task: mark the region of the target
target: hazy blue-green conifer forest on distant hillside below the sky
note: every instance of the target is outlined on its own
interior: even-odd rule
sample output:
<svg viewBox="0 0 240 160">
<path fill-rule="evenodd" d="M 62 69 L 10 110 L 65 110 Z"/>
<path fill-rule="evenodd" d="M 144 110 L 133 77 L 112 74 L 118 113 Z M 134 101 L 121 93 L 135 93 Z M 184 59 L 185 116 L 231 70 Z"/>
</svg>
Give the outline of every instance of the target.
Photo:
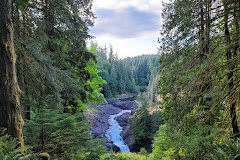
<svg viewBox="0 0 240 160">
<path fill-rule="evenodd" d="M 96 47 L 97 44 L 92 43 Z M 145 91 L 148 82 L 157 72 L 158 55 L 143 55 L 119 59 L 113 53 L 113 47 L 97 47 L 99 75 L 107 82 L 102 86 L 106 98 L 116 97 L 122 93 Z"/>
</svg>

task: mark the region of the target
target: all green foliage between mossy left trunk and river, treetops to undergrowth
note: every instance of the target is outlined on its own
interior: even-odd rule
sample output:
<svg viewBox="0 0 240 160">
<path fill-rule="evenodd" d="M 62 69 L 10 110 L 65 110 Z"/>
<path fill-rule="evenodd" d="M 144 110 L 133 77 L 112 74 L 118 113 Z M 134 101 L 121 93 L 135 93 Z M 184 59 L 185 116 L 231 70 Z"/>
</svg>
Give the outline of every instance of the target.
<svg viewBox="0 0 240 160">
<path fill-rule="evenodd" d="M 104 102 L 106 83 L 96 47 L 86 48 L 92 1 L 28 2 L 14 1 L 13 11 L 25 143 L 53 159 L 99 159 L 105 148 L 91 140 L 83 115 L 90 103 Z"/>
</svg>

